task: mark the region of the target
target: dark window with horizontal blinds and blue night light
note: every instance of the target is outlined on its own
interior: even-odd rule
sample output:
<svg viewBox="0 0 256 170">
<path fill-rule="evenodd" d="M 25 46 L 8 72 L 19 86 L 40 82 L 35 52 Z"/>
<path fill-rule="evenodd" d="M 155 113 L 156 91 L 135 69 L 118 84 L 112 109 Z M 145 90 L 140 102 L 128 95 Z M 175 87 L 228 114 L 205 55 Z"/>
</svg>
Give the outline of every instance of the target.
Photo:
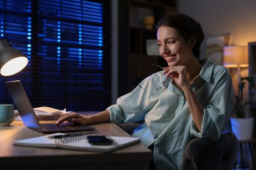
<svg viewBox="0 0 256 170">
<path fill-rule="evenodd" d="M 0 101 L 12 103 L 5 81 L 21 80 L 33 107 L 104 110 L 110 105 L 111 1 L 3 0 L 0 38 L 28 57 L 1 77 Z"/>
</svg>

